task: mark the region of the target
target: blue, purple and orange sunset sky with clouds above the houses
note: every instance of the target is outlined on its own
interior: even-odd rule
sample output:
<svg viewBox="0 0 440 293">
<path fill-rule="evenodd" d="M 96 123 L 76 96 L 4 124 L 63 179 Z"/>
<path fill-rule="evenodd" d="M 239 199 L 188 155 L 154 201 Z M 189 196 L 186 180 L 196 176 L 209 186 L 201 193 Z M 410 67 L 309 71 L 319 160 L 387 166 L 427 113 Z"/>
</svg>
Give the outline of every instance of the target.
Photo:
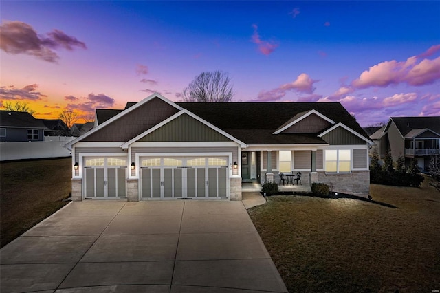
<svg viewBox="0 0 440 293">
<path fill-rule="evenodd" d="M 181 100 L 339 101 L 362 126 L 440 116 L 440 1 L 1 1 L 0 100 L 36 118 Z"/>
</svg>

